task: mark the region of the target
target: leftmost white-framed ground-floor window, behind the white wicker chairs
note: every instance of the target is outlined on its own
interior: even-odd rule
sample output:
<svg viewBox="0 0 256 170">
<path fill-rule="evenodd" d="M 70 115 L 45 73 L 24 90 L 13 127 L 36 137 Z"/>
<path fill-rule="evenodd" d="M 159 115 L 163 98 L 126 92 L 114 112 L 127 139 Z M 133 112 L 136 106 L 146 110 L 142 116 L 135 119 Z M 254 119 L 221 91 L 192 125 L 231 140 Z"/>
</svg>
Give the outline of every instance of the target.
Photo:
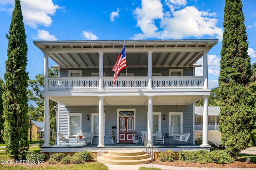
<svg viewBox="0 0 256 170">
<path fill-rule="evenodd" d="M 82 113 L 68 113 L 68 135 L 82 132 Z"/>
</svg>

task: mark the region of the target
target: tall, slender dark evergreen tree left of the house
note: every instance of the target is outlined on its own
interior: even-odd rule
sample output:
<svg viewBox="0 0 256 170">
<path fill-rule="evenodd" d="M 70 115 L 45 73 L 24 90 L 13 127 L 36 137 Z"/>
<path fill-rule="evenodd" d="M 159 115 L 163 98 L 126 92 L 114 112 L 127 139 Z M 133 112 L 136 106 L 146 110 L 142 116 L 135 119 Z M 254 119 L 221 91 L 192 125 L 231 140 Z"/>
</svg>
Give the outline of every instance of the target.
<svg viewBox="0 0 256 170">
<path fill-rule="evenodd" d="M 28 72 L 26 72 L 27 52 L 26 33 L 20 0 L 15 0 L 10 24 L 6 61 L 4 106 L 4 141 L 6 152 L 14 160 L 19 160 L 28 150 Z"/>
</svg>

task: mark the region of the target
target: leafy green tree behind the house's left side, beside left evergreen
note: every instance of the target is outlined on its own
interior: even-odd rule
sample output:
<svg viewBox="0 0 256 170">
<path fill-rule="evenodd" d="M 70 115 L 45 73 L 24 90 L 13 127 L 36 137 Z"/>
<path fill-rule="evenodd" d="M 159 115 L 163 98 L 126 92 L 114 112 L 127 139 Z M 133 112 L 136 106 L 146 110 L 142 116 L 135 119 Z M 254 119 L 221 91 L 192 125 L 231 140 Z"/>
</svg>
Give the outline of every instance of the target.
<svg viewBox="0 0 256 170">
<path fill-rule="evenodd" d="M 56 77 L 58 74 L 57 69 L 52 70 L 49 68 L 49 77 Z M 44 75 L 36 75 L 36 80 L 29 80 L 29 99 L 34 101 L 37 105 L 36 108 L 31 106 L 31 115 L 33 120 L 44 121 L 44 98 L 42 96 L 42 90 L 44 89 Z M 55 129 L 55 110 L 53 106 L 57 103 L 50 100 L 50 128 Z"/>
</svg>

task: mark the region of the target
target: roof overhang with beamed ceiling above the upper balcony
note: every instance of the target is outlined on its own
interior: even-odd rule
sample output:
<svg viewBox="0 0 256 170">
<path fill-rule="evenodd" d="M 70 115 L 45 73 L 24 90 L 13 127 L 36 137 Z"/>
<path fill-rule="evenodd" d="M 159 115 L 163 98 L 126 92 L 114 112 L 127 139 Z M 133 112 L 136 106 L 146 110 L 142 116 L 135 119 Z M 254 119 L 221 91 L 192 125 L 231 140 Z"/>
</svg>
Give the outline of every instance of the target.
<svg viewBox="0 0 256 170">
<path fill-rule="evenodd" d="M 127 67 L 148 67 L 148 51 L 152 51 L 152 67 L 191 67 L 218 43 L 206 40 L 127 40 Z M 60 68 L 98 68 L 99 52 L 103 52 L 104 68 L 112 68 L 122 51 L 124 41 L 34 41 L 36 47 Z"/>
</svg>

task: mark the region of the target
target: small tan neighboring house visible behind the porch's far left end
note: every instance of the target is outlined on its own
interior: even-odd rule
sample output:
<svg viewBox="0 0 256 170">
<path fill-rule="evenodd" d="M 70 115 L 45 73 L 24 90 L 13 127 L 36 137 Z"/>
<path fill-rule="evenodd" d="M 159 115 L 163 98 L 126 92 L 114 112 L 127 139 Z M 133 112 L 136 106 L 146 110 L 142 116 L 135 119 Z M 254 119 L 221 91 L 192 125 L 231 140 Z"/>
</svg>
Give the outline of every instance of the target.
<svg viewBox="0 0 256 170">
<path fill-rule="evenodd" d="M 35 120 L 31 120 L 31 124 L 32 124 L 32 139 L 43 139 L 44 138 L 44 122 L 41 121 L 35 121 Z M 50 132 L 54 132 L 54 130 L 52 130 L 50 128 Z M 30 135 L 30 129 L 28 130 L 28 134 Z"/>
</svg>

